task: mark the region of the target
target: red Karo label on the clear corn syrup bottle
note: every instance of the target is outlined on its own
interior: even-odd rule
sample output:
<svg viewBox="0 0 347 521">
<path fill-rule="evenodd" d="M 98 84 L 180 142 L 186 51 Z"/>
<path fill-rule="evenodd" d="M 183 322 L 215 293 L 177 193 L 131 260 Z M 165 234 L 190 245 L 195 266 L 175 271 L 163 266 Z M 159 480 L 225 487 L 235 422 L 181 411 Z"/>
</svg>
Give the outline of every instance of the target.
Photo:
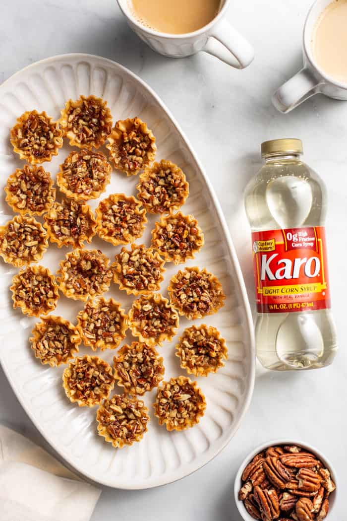
<svg viewBox="0 0 347 521">
<path fill-rule="evenodd" d="M 252 233 L 258 313 L 330 307 L 325 228 Z"/>
</svg>

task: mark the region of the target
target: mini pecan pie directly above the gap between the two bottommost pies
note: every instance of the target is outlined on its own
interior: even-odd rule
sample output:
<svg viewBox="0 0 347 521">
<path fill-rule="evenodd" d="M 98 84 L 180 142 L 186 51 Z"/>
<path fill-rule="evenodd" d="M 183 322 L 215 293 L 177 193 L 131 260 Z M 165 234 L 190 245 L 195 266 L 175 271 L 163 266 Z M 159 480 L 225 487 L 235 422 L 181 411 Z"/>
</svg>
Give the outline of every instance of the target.
<svg viewBox="0 0 347 521">
<path fill-rule="evenodd" d="M 131 394 L 145 394 L 163 379 L 163 358 L 155 348 L 144 343 L 123 345 L 113 358 L 114 376 L 118 385 Z"/>
</svg>

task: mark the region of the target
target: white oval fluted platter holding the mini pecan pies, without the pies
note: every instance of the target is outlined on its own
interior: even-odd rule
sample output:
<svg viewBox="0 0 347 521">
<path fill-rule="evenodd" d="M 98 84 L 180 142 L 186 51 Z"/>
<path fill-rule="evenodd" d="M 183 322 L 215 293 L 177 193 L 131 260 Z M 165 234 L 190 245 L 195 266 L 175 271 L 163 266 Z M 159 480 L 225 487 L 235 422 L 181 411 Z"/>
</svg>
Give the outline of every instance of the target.
<svg viewBox="0 0 347 521">
<path fill-rule="evenodd" d="M 81 94 L 104 97 L 111 108 L 113 121 L 134 116 L 146 121 L 157 138 L 157 159 L 170 159 L 186 173 L 190 195 L 182 211 L 198 219 L 205 237 L 201 252 L 187 265 L 212 271 L 222 282 L 227 295 L 225 306 L 219 313 L 195 321 L 195 324 L 205 322 L 218 328 L 227 341 L 229 357 L 217 374 L 197 379 L 207 399 L 205 416 L 197 426 L 183 432 L 168 432 L 165 427 L 160 427 L 152 414 L 151 404 L 155 397 L 155 391 L 152 391 L 145 396 L 151 421 L 143 440 L 128 448 L 114 449 L 97 435 L 96 409 L 78 407 L 66 398 L 61 386 L 63 368 L 43 366 L 34 358 L 28 339 L 38 319 L 27 318 L 18 309 L 12 309 L 9 286 L 12 275 L 18 270 L 1 261 L 0 360 L 25 411 L 66 462 L 87 478 L 110 487 L 150 488 L 194 472 L 208 463 L 233 437 L 253 391 L 252 319 L 233 243 L 220 205 L 197 157 L 158 96 L 132 72 L 111 60 L 86 54 L 55 56 L 17 72 L 0 86 L 0 224 L 12 216 L 3 190 L 6 179 L 23 164 L 12 152 L 9 129 L 25 110 L 45 110 L 57 119 L 65 102 Z M 52 162 L 43 164 L 54 178 L 58 165 L 70 151 L 65 143 Z M 136 196 L 136 182 L 137 176 L 126 178 L 114 170 L 111 183 L 101 198 L 115 192 Z M 98 201 L 90 204 L 95 209 Z M 155 220 L 156 216 L 149 217 L 146 231 L 138 243 L 149 245 Z M 120 247 L 95 238 L 87 247 L 102 249 L 111 261 L 120 250 Z M 55 272 L 67 251 L 70 250 L 59 250 L 51 244 L 40 264 Z M 170 277 L 182 267 L 166 264 L 161 286 L 164 295 L 167 296 Z M 120 301 L 126 310 L 131 306 L 133 299 L 113 283 L 108 295 Z M 61 295 L 54 314 L 76 322 L 76 314 L 82 307 L 82 302 Z M 181 318 L 178 334 L 188 324 Z M 174 356 L 176 339 L 159 348 L 164 357 L 165 379 L 185 374 Z M 125 342 L 128 341 L 132 341 L 130 334 Z M 91 350 L 82 347 L 80 353 L 90 354 Z M 114 354 L 114 351 L 109 351 L 100 356 L 112 363 Z M 115 392 L 121 392 L 121 389 L 116 386 Z"/>
</svg>

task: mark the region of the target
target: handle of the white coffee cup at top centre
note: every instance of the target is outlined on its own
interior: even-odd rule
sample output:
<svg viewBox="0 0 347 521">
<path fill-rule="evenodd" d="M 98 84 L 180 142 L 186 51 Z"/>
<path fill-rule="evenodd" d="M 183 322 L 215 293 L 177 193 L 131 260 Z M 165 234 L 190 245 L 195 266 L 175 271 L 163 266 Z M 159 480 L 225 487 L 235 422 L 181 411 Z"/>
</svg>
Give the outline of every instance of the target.
<svg viewBox="0 0 347 521">
<path fill-rule="evenodd" d="M 254 58 L 251 44 L 226 20 L 222 20 L 213 28 L 203 51 L 212 54 L 236 69 L 248 67 Z"/>
</svg>

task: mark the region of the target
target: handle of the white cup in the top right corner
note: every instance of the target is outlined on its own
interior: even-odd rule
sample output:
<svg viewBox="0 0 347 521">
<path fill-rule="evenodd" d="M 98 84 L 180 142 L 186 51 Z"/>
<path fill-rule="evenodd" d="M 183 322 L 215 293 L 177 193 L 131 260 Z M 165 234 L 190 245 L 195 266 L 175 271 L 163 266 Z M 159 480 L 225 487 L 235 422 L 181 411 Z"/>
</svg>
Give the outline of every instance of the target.
<svg viewBox="0 0 347 521">
<path fill-rule="evenodd" d="M 319 92 L 322 82 L 317 81 L 308 67 L 303 67 L 273 95 L 272 103 L 280 112 L 287 114 L 293 108 Z"/>
</svg>

